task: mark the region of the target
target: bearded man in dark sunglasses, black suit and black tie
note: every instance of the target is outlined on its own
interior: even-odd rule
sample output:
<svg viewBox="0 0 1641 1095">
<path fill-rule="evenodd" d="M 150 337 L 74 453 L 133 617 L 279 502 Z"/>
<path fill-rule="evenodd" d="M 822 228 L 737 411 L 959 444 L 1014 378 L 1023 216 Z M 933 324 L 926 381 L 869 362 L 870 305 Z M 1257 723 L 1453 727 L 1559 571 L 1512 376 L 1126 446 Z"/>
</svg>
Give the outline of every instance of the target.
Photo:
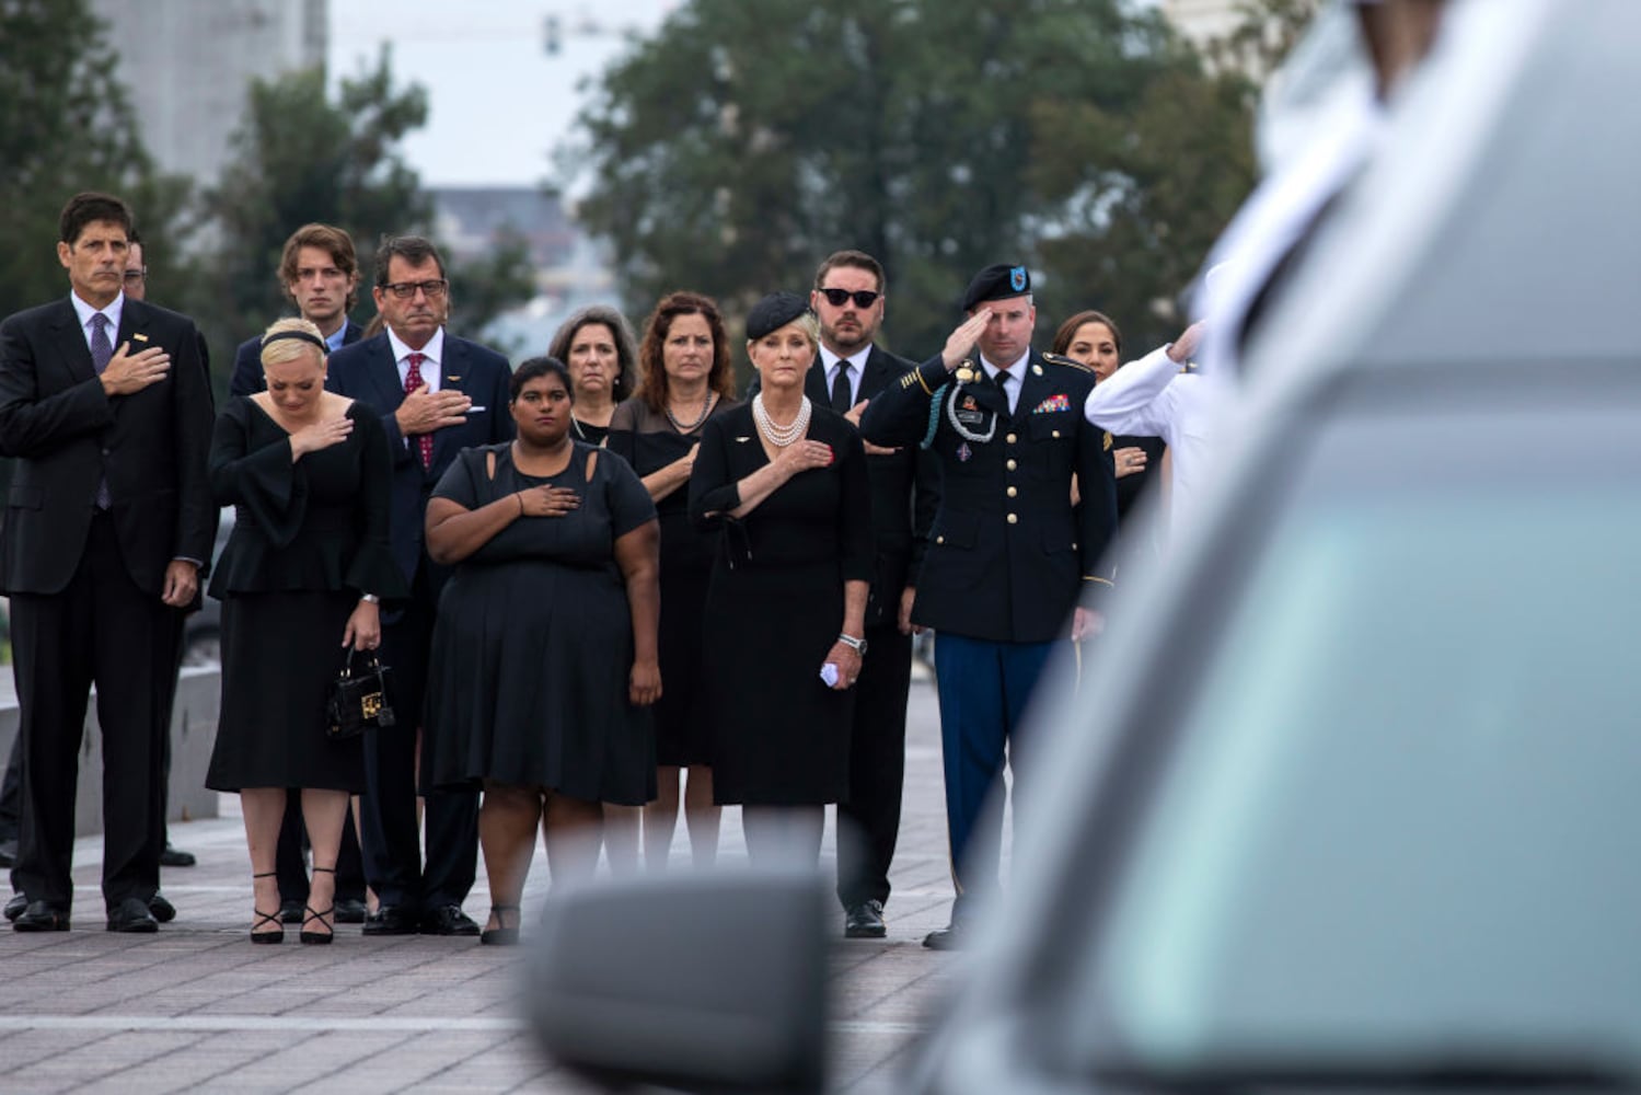
<svg viewBox="0 0 1641 1095">
<path fill-rule="evenodd" d="M 820 353 L 804 378 L 804 391 L 860 425 L 866 404 L 914 364 L 873 345 L 883 323 L 883 266 L 865 251 L 827 256 L 816 271 L 809 305 L 820 318 Z M 916 445 L 866 445 L 876 558 L 866 599 L 866 652 L 855 680 L 848 803 L 837 809 L 837 898 L 848 939 L 888 934 L 883 906 L 889 900 L 906 780 L 911 607 L 924 552 L 921 534 L 939 504 L 939 468 L 921 456 Z"/>
</svg>

